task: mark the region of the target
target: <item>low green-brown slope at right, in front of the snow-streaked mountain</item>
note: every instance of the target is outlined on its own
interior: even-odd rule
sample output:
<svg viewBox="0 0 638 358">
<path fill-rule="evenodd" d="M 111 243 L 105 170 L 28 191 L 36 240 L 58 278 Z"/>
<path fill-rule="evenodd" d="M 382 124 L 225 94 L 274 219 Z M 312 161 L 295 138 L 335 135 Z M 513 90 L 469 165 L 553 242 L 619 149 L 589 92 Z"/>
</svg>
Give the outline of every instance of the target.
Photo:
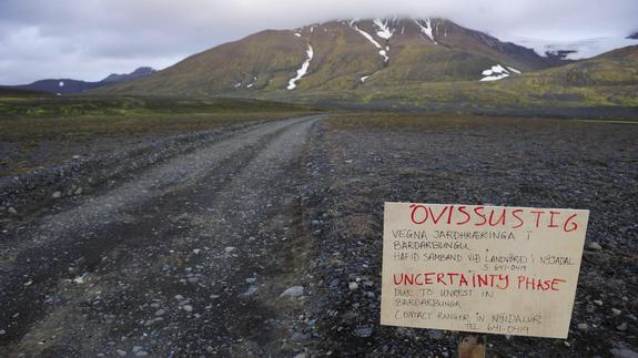
<svg viewBox="0 0 638 358">
<path fill-rule="evenodd" d="M 262 93 L 261 99 L 296 103 L 414 110 L 507 109 L 540 113 L 566 109 L 578 115 L 594 108 L 616 106 L 636 117 L 638 110 L 638 45 L 618 49 L 589 60 L 531 71 L 496 82 L 421 82 L 354 90 Z M 567 113 L 567 112 L 565 112 Z"/>
</svg>

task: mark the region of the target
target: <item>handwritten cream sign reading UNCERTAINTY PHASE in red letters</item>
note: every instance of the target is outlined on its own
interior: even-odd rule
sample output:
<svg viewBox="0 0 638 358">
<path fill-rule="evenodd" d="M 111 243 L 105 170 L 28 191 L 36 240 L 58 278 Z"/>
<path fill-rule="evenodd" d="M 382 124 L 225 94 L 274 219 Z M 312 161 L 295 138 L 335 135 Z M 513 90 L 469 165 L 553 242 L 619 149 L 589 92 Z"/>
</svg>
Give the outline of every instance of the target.
<svg viewBox="0 0 638 358">
<path fill-rule="evenodd" d="M 386 203 L 382 325 L 567 338 L 588 218 Z"/>
</svg>

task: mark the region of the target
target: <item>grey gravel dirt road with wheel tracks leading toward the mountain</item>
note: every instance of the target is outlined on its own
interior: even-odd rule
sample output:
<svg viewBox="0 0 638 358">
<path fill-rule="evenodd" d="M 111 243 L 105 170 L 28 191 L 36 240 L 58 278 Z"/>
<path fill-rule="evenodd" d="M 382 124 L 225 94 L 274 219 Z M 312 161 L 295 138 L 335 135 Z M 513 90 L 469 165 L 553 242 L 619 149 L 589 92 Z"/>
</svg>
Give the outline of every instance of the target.
<svg viewBox="0 0 638 358">
<path fill-rule="evenodd" d="M 4 231 L 0 356 L 297 352 L 304 295 L 281 296 L 304 286 L 300 158 L 321 119 L 249 126 Z"/>
</svg>

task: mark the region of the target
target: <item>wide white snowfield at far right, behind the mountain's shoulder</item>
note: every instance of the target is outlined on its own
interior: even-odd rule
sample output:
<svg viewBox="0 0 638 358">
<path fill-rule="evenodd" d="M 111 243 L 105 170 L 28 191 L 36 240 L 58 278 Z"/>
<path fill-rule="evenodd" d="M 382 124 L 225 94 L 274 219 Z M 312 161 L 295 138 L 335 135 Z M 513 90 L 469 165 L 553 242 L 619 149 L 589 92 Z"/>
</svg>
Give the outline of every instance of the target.
<svg viewBox="0 0 638 358">
<path fill-rule="evenodd" d="M 615 49 L 638 44 L 638 40 L 622 38 L 597 38 L 577 41 L 551 41 L 521 37 L 503 38 L 505 41 L 533 49 L 539 55 L 548 57 L 549 54 L 565 60 L 589 59 Z"/>
</svg>

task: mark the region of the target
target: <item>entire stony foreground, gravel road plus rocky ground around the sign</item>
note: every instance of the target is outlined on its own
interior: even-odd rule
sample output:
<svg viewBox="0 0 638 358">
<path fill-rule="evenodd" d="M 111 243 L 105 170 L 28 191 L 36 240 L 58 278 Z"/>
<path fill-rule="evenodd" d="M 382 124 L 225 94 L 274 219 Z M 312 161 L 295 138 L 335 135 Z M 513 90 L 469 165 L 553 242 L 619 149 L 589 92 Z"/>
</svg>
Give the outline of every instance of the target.
<svg viewBox="0 0 638 358">
<path fill-rule="evenodd" d="M 409 201 L 589 208 L 569 338 L 488 350 L 635 357 L 637 134 L 308 116 L 4 181 L 0 356 L 454 356 L 457 333 L 378 324 L 383 203 Z"/>
</svg>

